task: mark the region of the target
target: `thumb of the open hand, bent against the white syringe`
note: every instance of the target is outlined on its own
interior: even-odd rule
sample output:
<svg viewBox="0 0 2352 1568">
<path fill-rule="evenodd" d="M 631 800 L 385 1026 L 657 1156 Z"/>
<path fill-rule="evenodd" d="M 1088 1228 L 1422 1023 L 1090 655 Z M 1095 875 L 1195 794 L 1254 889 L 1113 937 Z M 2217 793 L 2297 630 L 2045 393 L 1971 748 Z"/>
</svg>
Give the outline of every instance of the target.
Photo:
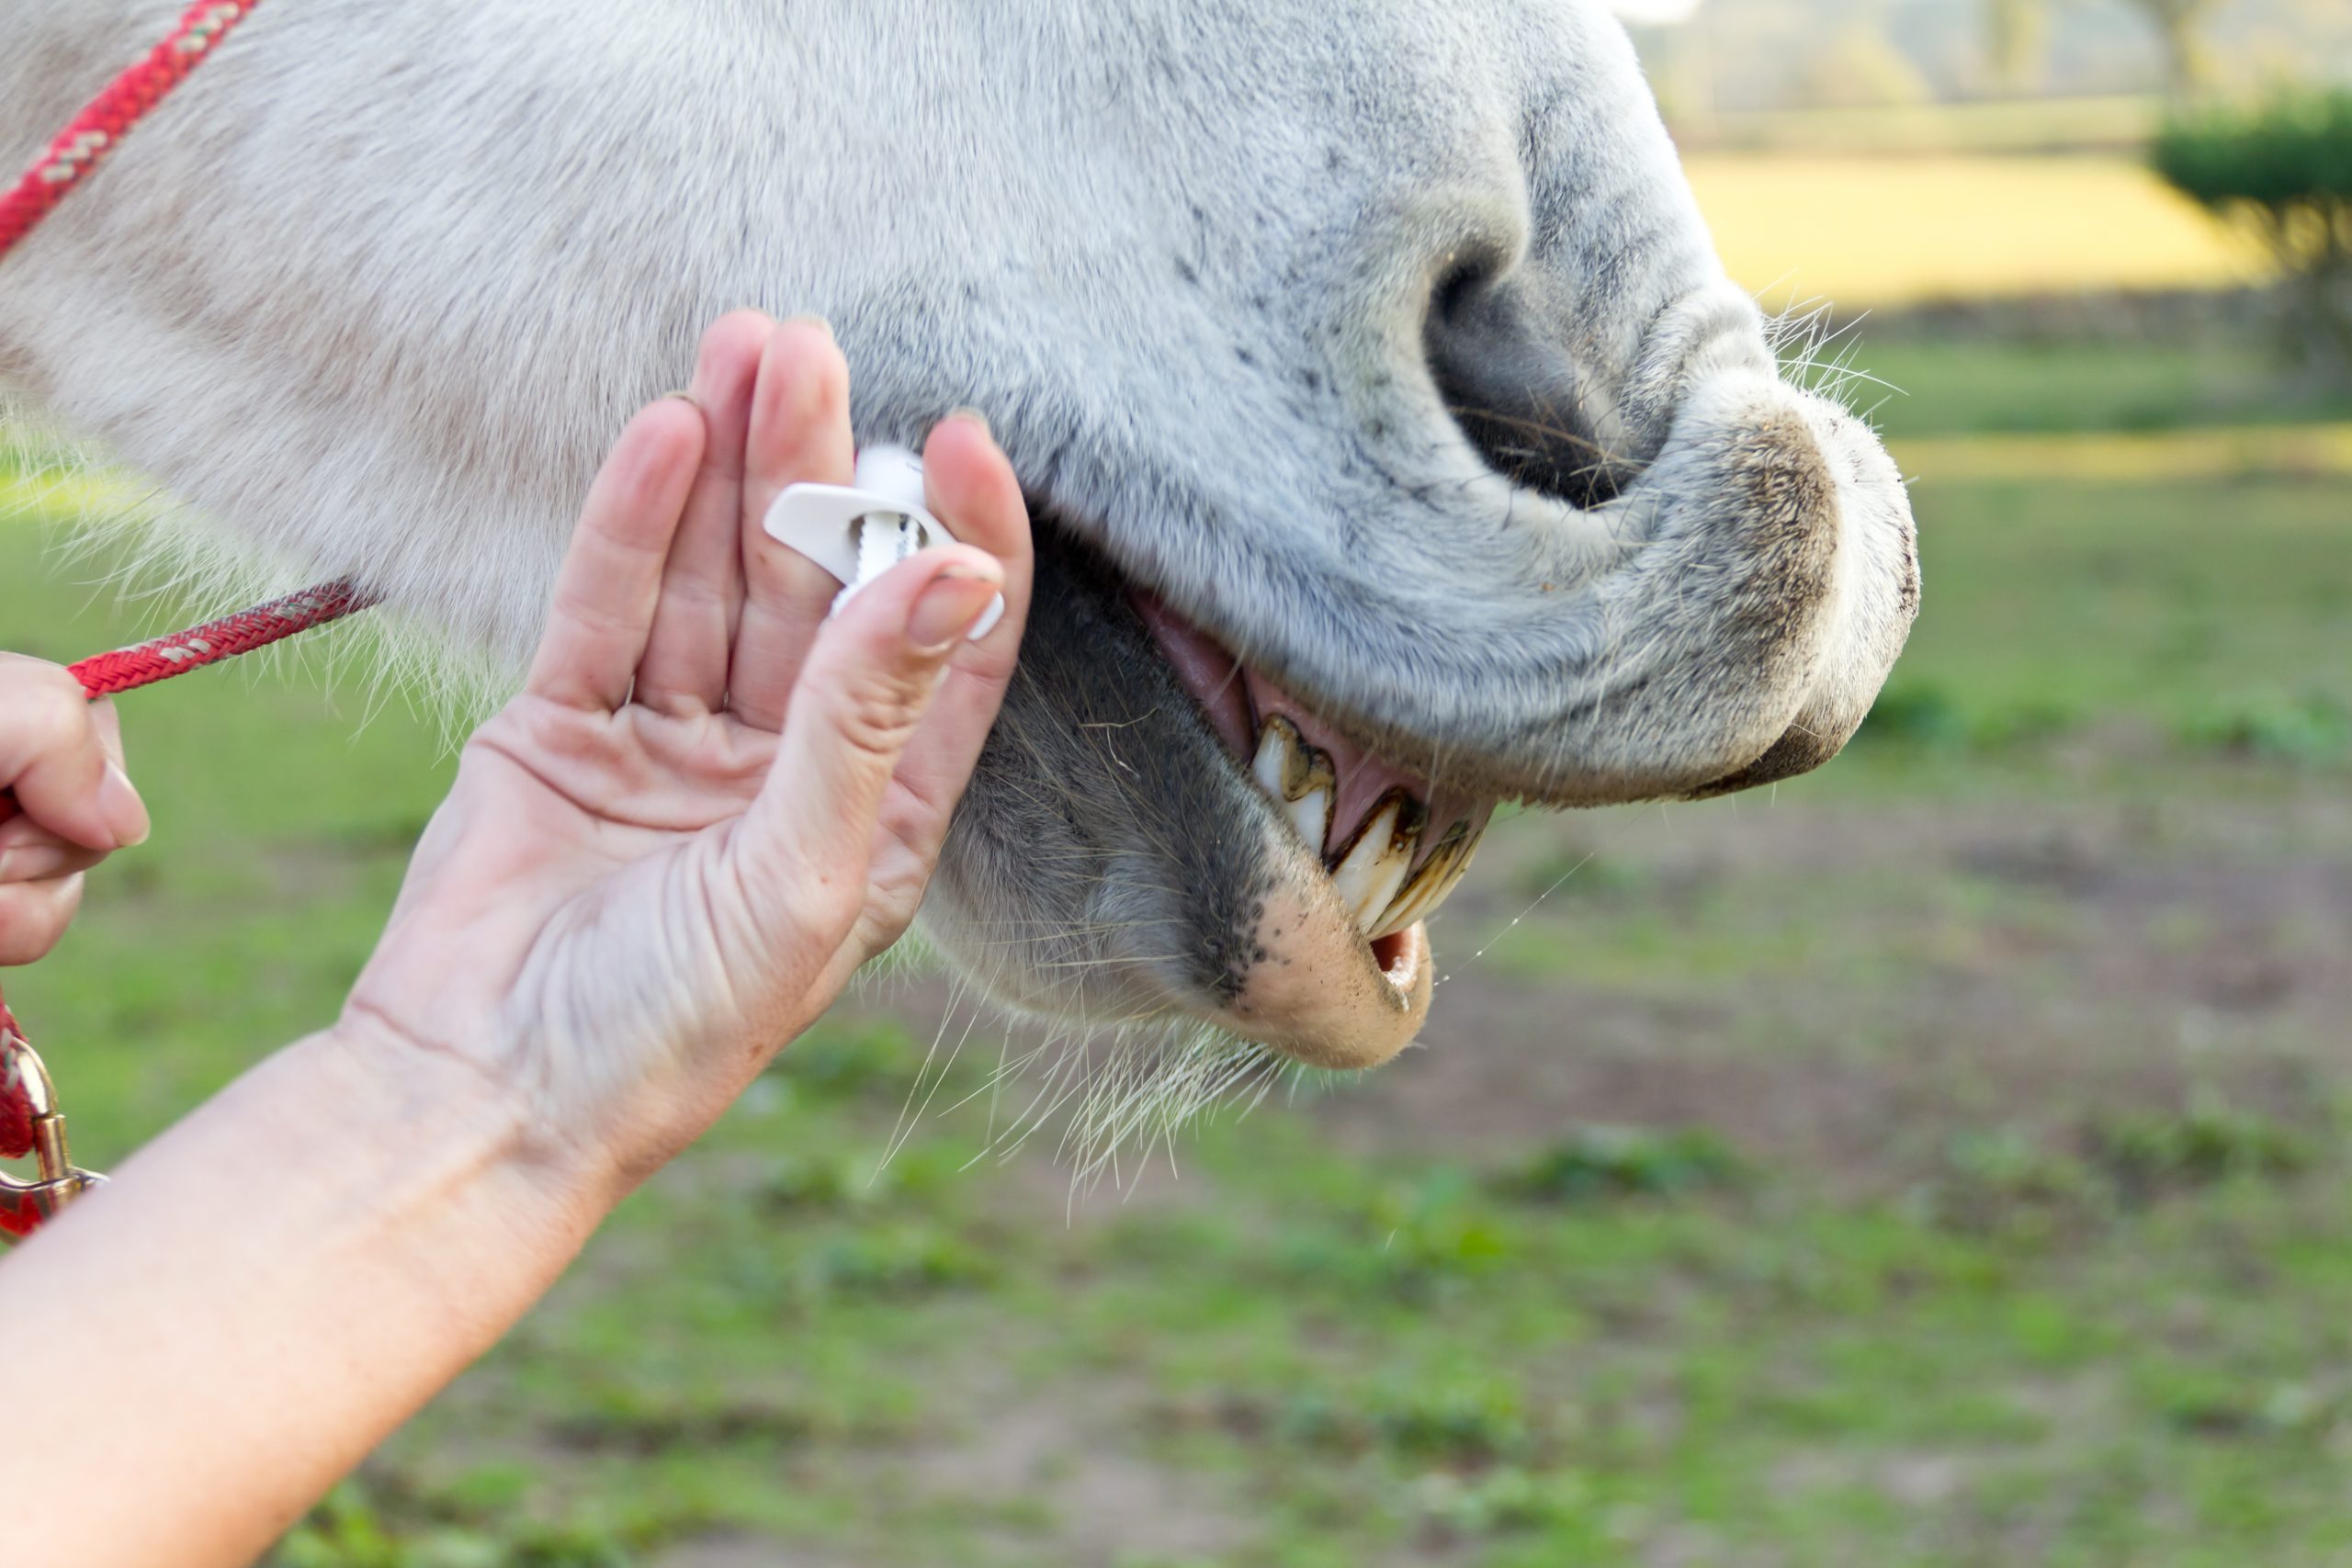
<svg viewBox="0 0 2352 1568">
<path fill-rule="evenodd" d="M 788 896 L 830 891 L 849 914 L 863 905 L 891 773 L 948 661 L 1000 592 L 1004 567 L 985 550 L 922 550 L 858 590 L 816 635 L 776 764 L 739 839 L 755 863 L 800 884 Z"/>
</svg>

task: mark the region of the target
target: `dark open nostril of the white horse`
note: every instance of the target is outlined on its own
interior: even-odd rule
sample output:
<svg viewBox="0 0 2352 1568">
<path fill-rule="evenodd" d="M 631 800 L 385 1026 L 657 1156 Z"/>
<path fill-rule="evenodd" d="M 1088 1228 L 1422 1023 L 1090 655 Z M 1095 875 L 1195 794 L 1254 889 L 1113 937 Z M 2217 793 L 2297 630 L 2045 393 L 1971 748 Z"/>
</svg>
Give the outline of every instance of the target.
<svg viewBox="0 0 2352 1568">
<path fill-rule="evenodd" d="M 1477 259 L 1451 266 L 1430 292 L 1423 350 L 1454 423 L 1512 484 L 1590 508 L 1630 482 L 1562 331 L 1515 280 Z"/>
</svg>

